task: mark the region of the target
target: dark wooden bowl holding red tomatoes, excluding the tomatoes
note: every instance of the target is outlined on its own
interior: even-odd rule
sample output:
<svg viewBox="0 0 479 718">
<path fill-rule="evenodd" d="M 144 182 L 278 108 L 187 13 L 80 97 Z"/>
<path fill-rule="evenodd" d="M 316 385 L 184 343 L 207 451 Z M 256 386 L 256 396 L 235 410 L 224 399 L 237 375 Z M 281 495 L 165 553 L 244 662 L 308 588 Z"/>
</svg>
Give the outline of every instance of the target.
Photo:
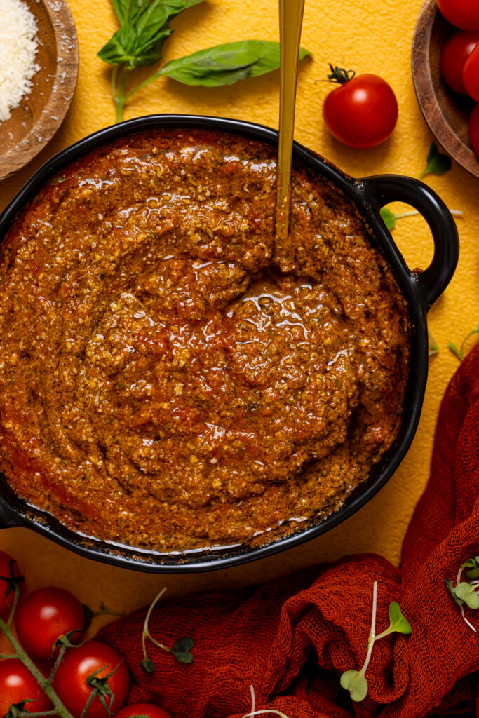
<svg viewBox="0 0 479 718">
<path fill-rule="evenodd" d="M 462 167 L 479 177 L 479 158 L 469 141 L 469 115 L 475 103 L 447 87 L 440 73 L 440 55 L 457 28 L 426 0 L 417 19 L 412 41 L 412 76 L 419 106 L 432 134 Z"/>
</svg>

